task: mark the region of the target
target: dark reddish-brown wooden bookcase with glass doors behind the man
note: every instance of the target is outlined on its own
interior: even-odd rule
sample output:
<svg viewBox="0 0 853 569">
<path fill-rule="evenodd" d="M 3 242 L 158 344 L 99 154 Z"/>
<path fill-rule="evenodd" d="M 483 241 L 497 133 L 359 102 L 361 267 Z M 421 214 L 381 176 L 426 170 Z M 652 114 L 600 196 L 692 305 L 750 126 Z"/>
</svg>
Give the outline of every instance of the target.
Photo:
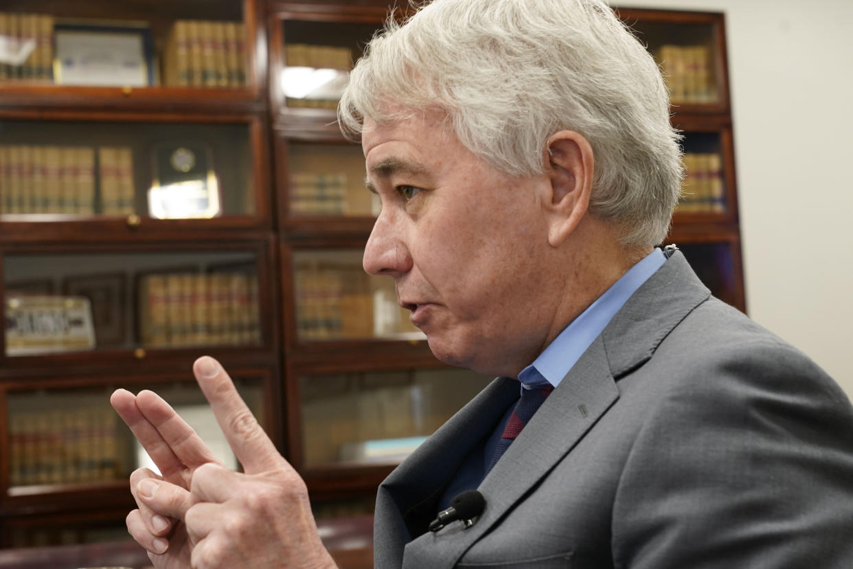
<svg viewBox="0 0 853 569">
<path fill-rule="evenodd" d="M 118 386 L 200 404 L 190 365 L 202 353 L 240 380 L 305 477 L 321 520 L 369 513 L 399 456 L 485 385 L 438 363 L 400 314 L 393 288 L 361 270 L 375 204 L 363 189 L 361 149 L 339 134 L 333 107 L 385 4 L 4 3 L 3 15 L 49 15 L 63 29 L 108 26 L 142 38 L 153 46 L 142 62 L 157 73 L 154 84 L 89 86 L 0 69 L 0 197 L 14 187 L 0 202 L 7 316 L 24 327 L 45 298 L 82 297 L 90 316 L 78 323 L 91 328 L 84 348 L 54 334 L 33 349 L 26 327 L 0 338 L 0 547 L 124 534 L 134 445 L 121 425 L 86 427 L 79 416 L 107 409 Z M 701 171 L 670 241 L 720 298 L 744 310 L 723 16 L 619 15 L 649 49 L 676 60 L 664 67 L 670 81 L 682 81 L 673 86 L 683 99 L 673 121 Z M 189 20 L 206 23 L 176 26 Z M 192 80 L 230 76 L 228 56 L 215 49 L 234 44 L 217 42 L 224 32 L 210 22 L 241 25 L 244 79 L 174 84 L 175 69 Z M 189 47 L 177 55 L 176 46 Z M 165 61 L 183 63 L 166 69 Z M 130 166 L 113 163 L 119 155 Z M 15 168 L 5 166 L 13 160 Z M 116 207 L 121 184 L 131 190 Z M 176 200 L 165 187 L 188 193 Z M 38 198 L 20 197 L 27 191 Z M 56 195 L 73 195 L 66 201 L 76 205 L 62 209 Z M 42 463 L 30 456 L 38 450 L 72 457 Z"/>
</svg>

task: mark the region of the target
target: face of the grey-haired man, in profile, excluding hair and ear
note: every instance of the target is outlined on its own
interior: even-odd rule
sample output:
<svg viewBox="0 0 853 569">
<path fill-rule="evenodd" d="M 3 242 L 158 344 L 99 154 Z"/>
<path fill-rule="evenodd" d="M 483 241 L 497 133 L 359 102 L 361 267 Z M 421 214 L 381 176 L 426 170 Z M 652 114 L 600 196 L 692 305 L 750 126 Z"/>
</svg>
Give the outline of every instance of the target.
<svg viewBox="0 0 853 569">
<path fill-rule="evenodd" d="M 554 318 L 553 299 L 540 294 L 548 177 L 496 171 L 429 115 L 368 119 L 362 146 L 368 187 L 382 201 L 364 269 L 394 279 L 438 359 L 518 374 L 543 350 Z"/>
</svg>

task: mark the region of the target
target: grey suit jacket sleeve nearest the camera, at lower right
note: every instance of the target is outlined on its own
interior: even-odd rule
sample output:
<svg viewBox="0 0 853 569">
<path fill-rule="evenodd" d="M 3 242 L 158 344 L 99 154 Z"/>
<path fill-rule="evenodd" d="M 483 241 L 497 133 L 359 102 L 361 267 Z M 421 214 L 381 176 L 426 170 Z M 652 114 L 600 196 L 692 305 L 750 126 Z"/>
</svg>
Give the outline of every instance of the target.
<svg viewBox="0 0 853 569">
<path fill-rule="evenodd" d="M 614 565 L 853 567 L 853 409 L 844 392 L 767 339 L 683 368 L 625 463 Z"/>
</svg>

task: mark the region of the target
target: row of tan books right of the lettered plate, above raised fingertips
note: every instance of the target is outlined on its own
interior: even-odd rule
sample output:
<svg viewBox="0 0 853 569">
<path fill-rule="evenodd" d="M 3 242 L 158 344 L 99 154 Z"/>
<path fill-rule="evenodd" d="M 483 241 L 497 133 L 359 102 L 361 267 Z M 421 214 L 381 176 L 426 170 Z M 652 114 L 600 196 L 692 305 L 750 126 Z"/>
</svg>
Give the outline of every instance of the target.
<svg viewBox="0 0 853 569">
<path fill-rule="evenodd" d="M 142 344 L 245 345 L 260 342 L 258 277 L 242 272 L 142 276 Z"/>
</svg>

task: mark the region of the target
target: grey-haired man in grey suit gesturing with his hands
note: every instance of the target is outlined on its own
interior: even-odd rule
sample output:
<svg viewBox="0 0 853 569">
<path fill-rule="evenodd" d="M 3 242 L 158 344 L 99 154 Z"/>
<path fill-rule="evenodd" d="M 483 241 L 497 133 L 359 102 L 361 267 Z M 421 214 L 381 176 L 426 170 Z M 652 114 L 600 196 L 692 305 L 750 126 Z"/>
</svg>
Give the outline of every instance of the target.
<svg viewBox="0 0 853 569">
<path fill-rule="evenodd" d="M 382 201 L 364 267 L 439 359 L 498 379 L 380 486 L 376 566 L 853 566 L 844 393 L 654 248 L 682 172 L 641 44 L 598 0 L 436 0 L 389 28 L 339 110 Z M 227 374 L 194 373 L 246 472 L 116 392 L 163 474 L 131 476 L 131 535 L 158 567 L 333 566 Z M 427 531 L 473 488 L 473 525 Z"/>
</svg>

